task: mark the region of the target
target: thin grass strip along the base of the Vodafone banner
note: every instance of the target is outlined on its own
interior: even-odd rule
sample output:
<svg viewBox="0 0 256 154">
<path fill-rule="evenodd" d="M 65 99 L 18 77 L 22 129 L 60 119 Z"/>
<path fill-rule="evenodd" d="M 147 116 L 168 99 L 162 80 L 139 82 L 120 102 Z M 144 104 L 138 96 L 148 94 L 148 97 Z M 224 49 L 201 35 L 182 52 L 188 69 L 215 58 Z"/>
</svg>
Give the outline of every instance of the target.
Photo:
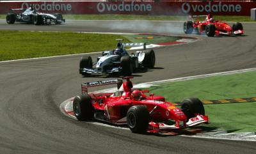
<svg viewBox="0 0 256 154">
<path fill-rule="evenodd" d="M 5 19 L 6 15 L 0 15 L 0 19 Z M 72 20 L 188 20 L 188 16 L 179 15 L 63 15 L 64 19 Z M 231 21 L 231 22 L 255 22 L 250 19 L 250 16 L 227 16 L 216 15 L 216 20 Z M 200 19 L 204 20 L 204 18 Z"/>
</svg>

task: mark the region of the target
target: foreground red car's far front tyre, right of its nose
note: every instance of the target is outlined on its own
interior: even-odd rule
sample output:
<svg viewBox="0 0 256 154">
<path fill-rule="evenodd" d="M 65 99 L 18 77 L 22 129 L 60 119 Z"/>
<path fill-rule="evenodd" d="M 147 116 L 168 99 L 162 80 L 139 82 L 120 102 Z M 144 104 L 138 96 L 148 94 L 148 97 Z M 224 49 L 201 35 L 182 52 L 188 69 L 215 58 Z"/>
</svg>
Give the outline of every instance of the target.
<svg viewBox="0 0 256 154">
<path fill-rule="evenodd" d="M 188 98 L 182 101 L 181 110 L 189 118 L 195 117 L 195 114 L 205 115 L 204 105 L 198 98 Z"/>
</svg>

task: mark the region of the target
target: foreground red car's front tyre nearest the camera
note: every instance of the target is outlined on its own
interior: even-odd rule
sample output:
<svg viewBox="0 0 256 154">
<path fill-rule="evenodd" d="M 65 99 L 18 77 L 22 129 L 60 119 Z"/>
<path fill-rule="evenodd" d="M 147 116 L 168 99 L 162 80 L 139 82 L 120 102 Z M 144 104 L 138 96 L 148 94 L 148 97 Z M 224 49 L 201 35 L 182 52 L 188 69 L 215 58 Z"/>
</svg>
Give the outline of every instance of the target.
<svg viewBox="0 0 256 154">
<path fill-rule="evenodd" d="M 133 133 L 145 133 L 149 121 L 150 114 L 143 105 L 134 105 L 127 112 L 127 125 Z"/>
</svg>

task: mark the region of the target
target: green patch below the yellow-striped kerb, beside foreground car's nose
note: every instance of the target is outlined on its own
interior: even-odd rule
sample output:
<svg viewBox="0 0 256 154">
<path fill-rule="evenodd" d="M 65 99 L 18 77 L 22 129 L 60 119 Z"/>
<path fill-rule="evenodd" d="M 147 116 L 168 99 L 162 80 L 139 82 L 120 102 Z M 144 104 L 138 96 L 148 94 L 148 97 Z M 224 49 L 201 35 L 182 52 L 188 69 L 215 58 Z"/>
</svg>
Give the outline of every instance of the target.
<svg viewBox="0 0 256 154">
<path fill-rule="evenodd" d="M 234 132 L 256 132 L 256 102 L 204 105 L 209 127 Z"/>
</svg>

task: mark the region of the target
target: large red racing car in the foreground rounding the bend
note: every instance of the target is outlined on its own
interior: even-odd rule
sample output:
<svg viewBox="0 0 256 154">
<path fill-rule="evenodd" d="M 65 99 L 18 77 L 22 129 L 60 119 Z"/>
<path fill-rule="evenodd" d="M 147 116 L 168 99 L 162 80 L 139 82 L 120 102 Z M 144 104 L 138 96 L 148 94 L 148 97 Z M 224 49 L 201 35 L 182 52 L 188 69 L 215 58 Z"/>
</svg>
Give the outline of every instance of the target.
<svg viewBox="0 0 256 154">
<path fill-rule="evenodd" d="M 188 98 L 181 109 L 165 101 L 163 96 L 154 96 L 148 90 L 132 89 L 132 77 L 111 81 L 82 84 L 82 95 L 73 101 L 73 110 L 78 120 L 96 119 L 113 125 L 128 125 L 134 133 L 169 132 L 173 129 L 208 123 L 204 105 L 198 98 Z M 88 88 L 117 84 L 115 93 L 88 93 Z"/>
</svg>

